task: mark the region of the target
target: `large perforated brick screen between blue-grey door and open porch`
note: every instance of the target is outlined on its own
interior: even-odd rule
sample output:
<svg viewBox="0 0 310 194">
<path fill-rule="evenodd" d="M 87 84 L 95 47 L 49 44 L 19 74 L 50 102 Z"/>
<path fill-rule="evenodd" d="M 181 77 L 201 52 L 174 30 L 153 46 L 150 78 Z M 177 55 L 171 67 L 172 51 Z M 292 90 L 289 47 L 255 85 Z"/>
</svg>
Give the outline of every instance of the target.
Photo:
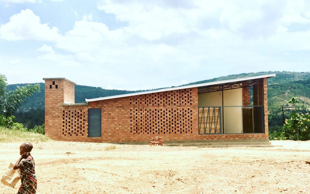
<svg viewBox="0 0 310 194">
<path fill-rule="evenodd" d="M 183 89 L 130 98 L 130 134 L 193 133 L 193 110 L 187 107 L 193 103 L 192 92 Z"/>
</svg>

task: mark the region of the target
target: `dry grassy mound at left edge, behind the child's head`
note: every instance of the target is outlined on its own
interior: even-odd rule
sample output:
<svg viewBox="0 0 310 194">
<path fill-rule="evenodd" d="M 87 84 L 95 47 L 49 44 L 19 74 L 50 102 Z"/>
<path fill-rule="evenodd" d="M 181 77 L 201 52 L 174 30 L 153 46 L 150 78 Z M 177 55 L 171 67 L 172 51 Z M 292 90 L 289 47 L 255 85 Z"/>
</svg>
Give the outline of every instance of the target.
<svg viewBox="0 0 310 194">
<path fill-rule="evenodd" d="M 3 142 L 3 143 L 27 142 L 27 141 L 46 142 L 49 140 L 50 138 L 42 134 L 0 127 L 0 142 Z"/>
</svg>

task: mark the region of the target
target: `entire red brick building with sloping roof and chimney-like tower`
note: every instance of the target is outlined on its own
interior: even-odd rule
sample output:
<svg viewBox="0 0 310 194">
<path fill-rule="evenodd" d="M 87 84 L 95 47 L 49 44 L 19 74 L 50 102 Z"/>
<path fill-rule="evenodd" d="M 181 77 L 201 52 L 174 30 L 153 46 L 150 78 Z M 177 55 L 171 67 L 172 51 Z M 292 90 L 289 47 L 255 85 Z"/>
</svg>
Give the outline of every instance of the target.
<svg viewBox="0 0 310 194">
<path fill-rule="evenodd" d="M 155 136 L 165 142 L 268 141 L 267 79 L 273 76 L 86 99 L 86 103 L 74 102 L 74 82 L 44 78 L 45 134 L 81 142 L 149 142 Z"/>
</svg>

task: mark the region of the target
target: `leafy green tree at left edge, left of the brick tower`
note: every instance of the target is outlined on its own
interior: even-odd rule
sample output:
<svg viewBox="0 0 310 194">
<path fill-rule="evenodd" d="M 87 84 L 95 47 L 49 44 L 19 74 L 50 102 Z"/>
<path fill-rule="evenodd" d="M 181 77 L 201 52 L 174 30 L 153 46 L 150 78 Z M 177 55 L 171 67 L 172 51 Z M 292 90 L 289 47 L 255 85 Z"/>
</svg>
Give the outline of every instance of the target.
<svg viewBox="0 0 310 194">
<path fill-rule="evenodd" d="M 17 89 L 8 91 L 7 78 L 0 74 L 0 119 L 11 116 L 35 92 L 40 92 L 40 84 L 17 86 Z"/>
</svg>

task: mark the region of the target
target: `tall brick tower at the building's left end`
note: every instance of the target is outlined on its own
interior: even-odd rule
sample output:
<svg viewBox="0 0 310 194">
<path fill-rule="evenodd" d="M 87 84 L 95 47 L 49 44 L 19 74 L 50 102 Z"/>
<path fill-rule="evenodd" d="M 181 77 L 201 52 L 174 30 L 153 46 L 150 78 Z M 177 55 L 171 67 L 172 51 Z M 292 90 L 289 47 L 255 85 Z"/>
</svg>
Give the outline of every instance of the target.
<svg viewBox="0 0 310 194">
<path fill-rule="evenodd" d="M 63 103 L 74 103 L 75 83 L 65 78 L 43 78 L 45 80 L 45 134 L 60 140 Z"/>
</svg>

